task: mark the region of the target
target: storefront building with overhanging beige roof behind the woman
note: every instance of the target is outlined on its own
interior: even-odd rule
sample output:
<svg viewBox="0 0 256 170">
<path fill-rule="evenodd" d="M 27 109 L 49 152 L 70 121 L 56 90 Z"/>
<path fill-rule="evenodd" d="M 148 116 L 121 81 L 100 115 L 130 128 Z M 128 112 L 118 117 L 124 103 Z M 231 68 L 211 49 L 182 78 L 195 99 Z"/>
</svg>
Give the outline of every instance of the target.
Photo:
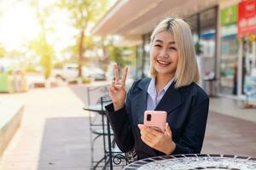
<svg viewBox="0 0 256 170">
<path fill-rule="evenodd" d="M 255 1 L 119 0 L 92 33 L 119 35 L 135 45 L 138 79 L 148 76 L 154 26 L 166 17 L 181 17 L 191 26 L 201 87 L 208 94 L 239 99 L 245 96 L 246 82 L 252 82 L 255 70 Z M 212 82 L 214 86 L 209 87 Z"/>
</svg>

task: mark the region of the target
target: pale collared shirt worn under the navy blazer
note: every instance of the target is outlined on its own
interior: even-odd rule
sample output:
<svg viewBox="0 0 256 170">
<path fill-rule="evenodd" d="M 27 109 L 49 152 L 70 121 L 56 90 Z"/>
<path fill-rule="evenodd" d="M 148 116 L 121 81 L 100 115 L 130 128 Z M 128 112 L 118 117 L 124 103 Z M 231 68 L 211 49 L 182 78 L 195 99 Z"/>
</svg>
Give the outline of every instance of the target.
<svg viewBox="0 0 256 170">
<path fill-rule="evenodd" d="M 156 92 L 155 78 L 152 78 L 148 85 L 148 99 L 147 99 L 147 111 L 154 111 L 156 105 L 159 104 L 160 100 L 166 94 L 167 89 L 171 86 L 174 78 L 168 82 L 165 88 L 161 89 L 159 94 Z"/>
</svg>

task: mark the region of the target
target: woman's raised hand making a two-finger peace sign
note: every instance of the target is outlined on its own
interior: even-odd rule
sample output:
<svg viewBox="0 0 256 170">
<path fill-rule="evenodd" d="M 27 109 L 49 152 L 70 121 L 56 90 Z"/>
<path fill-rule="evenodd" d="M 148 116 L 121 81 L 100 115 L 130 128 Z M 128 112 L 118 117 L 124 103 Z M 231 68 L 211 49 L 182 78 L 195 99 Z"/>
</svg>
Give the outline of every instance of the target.
<svg viewBox="0 0 256 170">
<path fill-rule="evenodd" d="M 114 77 L 115 81 L 109 87 L 109 95 L 113 101 L 113 109 L 114 111 L 118 111 L 119 109 L 125 106 L 125 98 L 126 98 L 126 90 L 125 90 L 125 81 L 127 77 L 128 67 L 126 66 L 122 79 L 119 81 L 119 70 L 118 65 L 114 65 Z"/>
</svg>

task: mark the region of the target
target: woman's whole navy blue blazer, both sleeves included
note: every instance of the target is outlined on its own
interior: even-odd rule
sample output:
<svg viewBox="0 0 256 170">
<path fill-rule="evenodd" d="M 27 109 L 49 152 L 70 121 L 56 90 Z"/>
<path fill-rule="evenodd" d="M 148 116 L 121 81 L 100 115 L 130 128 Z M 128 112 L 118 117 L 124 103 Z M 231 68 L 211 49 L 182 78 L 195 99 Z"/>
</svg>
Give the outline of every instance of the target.
<svg viewBox="0 0 256 170">
<path fill-rule="evenodd" d="M 150 80 L 144 78 L 134 82 L 127 94 L 125 107 L 119 111 L 113 110 L 113 104 L 106 106 L 119 149 L 127 152 L 134 148 L 138 159 L 165 155 L 143 143 L 137 127 L 138 123 L 143 123 Z M 209 98 L 195 82 L 182 88 L 174 88 L 174 85 L 175 82 L 172 82 L 155 111 L 167 112 L 172 140 L 176 144 L 173 155 L 200 153 L 207 125 Z"/>
</svg>

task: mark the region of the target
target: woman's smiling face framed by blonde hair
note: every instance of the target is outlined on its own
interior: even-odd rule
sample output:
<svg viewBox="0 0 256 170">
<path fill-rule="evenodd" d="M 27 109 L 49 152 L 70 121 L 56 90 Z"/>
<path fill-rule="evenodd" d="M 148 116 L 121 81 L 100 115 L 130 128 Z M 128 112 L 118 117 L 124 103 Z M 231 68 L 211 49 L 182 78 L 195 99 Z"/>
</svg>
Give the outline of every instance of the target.
<svg viewBox="0 0 256 170">
<path fill-rule="evenodd" d="M 156 77 L 174 77 L 177 69 L 177 43 L 172 33 L 160 31 L 152 42 L 150 49 L 151 65 L 156 71 Z"/>
</svg>

